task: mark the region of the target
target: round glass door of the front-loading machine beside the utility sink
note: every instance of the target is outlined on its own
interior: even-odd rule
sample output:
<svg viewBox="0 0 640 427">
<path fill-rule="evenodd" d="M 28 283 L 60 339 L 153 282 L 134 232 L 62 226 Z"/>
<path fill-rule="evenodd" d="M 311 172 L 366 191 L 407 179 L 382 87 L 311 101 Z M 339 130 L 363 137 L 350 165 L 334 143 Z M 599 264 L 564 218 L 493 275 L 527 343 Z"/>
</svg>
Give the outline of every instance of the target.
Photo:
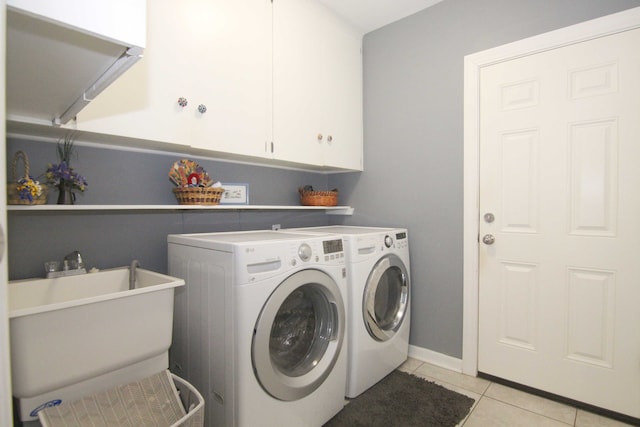
<svg viewBox="0 0 640 427">
<path fill-rule="evenodd" d="M 252 362 L 262 388 L 285 401 L 313 393 L 331 373 L 344 331 L 336 282 L 314 269 L 289 276 L 270 295 L 255 326 Z"/>
</svg>

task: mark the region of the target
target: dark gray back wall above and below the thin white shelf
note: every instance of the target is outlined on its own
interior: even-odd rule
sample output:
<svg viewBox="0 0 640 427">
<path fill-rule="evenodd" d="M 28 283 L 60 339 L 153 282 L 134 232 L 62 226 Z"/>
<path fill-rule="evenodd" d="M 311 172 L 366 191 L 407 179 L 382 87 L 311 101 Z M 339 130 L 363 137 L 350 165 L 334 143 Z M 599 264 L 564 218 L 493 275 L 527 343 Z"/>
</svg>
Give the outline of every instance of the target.
<svg viewBox="0 0 640 427">
<path fill-rule="evenodd" d="M 155 154 L 76 145 L 72 166 L 87 178 L 87 191 L 77 193 L 78 204 L 176 205 L 169 168 L 176 160 L 190 158 L 213 179 L 248 183 L 254 205 L 299 205 L 297 188 L 310 184 L 327 188 L 327 176 L 319 173 L 274 169 L 179 154 Z M 31 174 L 42 174 L 48 163 L 57 163 L 56 144 L 9 139 L 9 164 L 17 150 L 29 156 Z M 19 165 L 18 175 L 22 173 Z M 11 168 L 8 167 L 8 175 Z M 8 180 L 11 177 L 8 176 Z M 44 182 L 44 178 L 41 178 Z M 52 189 L 49 203 L 56 203 Z M 167 272 L 167 234 L 270 229 L 326 225 L 327 215 L 315 211 L 10 211 L 9 279 L 44 275 L 43 262 L 58 260 L 79 250 L 89 267 L 129 265 L 137 258 L 144 268 Z"/>
</svg>

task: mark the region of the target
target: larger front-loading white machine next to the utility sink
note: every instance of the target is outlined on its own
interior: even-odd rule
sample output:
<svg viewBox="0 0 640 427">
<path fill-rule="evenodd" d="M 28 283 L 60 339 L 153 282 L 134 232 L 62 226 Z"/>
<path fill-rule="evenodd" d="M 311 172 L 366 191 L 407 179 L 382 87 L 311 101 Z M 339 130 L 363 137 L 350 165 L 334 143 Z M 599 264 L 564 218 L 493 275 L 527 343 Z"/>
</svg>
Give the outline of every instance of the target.
<svg viewBox="0 0 640 427">
<path fill-rule="evenodd" d="M 321 426 L 344 406 L 340 236 L 246 231 L 168 236 L 170 368 L 205 397 L 207 426 Z"/>
</svg>

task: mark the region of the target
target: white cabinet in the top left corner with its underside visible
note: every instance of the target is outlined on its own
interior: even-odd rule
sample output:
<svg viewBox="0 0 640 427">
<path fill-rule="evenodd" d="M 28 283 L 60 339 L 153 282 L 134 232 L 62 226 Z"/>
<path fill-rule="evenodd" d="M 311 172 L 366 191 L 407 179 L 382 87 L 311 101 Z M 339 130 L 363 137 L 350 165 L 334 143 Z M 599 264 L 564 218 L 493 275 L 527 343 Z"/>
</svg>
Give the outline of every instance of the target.
<svg viewBox="0 0 640 427">
<path fill-rule="evenodd" d="M 61 125 L 141 57 L 145 0 L 8 0 L 7 119 Z"/>
</svg>

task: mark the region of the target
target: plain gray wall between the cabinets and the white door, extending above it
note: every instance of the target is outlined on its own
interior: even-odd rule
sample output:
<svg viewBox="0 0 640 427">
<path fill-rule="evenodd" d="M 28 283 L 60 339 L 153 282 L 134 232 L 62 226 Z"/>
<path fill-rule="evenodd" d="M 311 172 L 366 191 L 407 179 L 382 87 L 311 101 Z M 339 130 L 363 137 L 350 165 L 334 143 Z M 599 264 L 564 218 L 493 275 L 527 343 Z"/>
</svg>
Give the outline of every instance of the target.
<svg viewBox="0 0 640 427">
<path fill-rule="evenodd" d="M 635 0 L 444 0 L 364 38 L 364 167 L 346 224 L 409 229 L 411 344 L 462 357 L 463 58 Z M 340 221 L 339 221 L 340 222 Z"/>
</svg>

